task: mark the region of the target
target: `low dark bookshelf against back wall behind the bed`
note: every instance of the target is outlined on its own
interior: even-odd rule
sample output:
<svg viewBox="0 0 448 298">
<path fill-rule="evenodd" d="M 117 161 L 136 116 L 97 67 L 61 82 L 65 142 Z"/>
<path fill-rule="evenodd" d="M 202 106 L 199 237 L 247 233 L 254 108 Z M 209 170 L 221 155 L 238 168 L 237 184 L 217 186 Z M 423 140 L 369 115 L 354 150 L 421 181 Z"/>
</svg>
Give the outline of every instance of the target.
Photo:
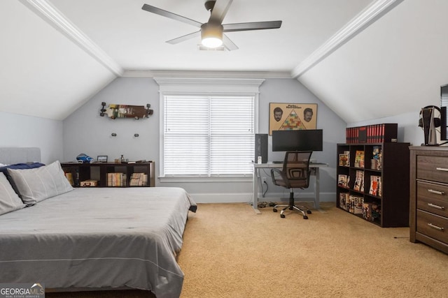
<svg viewBox="0 0 448 298">
<path fill-rule="evenodd" d="M 153 187 L 154 163 L 61 163 L 74 187 L 83 181 L 92 187 Z M 71 177 L 71 179 L 70 179 Z"/>
</svg>

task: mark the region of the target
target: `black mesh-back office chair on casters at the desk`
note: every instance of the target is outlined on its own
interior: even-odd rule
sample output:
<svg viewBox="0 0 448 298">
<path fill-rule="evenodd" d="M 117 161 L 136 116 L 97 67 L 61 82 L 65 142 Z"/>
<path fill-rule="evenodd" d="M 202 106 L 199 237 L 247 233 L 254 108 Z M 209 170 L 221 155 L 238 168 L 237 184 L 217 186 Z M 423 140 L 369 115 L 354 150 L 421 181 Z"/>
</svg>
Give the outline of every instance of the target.
<svg viewBox="0 0 448 298">
<path fill-rule="evenodd" d="M 276 212 L 277 207 L 284 207 L 280 211 L 280 217 L 285 218 L 284 211 L 286 209 L 296 210 L 302 213 L 304 219 L 308 219 L 307 214 L 311 214 L 311 210 L 304 206 L 295 206 L 293 188 L 307 188 L 309 186 L 309 158 L 313 151 L 287 151 L 283 168 L 271 169 L 272 183 L 274 185 L 289 188 L 289 204 L 275 205 L 272 211 Z M 305 213 L 306 212 L 306 213 Z"/>
</svg>

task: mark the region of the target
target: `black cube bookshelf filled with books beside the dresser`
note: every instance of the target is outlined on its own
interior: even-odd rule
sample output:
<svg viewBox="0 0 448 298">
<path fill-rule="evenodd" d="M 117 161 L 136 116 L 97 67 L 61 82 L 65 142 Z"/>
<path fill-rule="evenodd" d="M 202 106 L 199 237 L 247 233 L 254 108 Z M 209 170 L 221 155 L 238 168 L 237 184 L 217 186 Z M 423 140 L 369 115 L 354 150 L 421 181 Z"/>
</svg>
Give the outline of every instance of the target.
<svg viewBox="0 0 448 298">
<path fill-rule="evenodd" d="M 409 226 L 409 143 L 337 144 L 336 206 L 383 228 Z"/>
</svg>

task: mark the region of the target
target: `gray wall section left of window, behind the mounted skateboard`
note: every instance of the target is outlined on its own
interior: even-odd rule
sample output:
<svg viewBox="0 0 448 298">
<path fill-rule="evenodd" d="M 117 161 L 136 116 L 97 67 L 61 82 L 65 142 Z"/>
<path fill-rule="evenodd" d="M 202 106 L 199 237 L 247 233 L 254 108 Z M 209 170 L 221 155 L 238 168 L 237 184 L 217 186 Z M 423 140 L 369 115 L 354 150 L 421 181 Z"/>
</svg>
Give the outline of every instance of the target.
<svg viewBox="0 0 448 298">
<path fill-rule="evenodd" d="M 100 117 L 102 102 L 107 105 L 150 103 L 154 114 L 139 120 Z M 93 158 L 107 155 L 109 161 L 122 154 L 132 161 L 158 161 L 159 119 L 158 84 L 148 77 L 118 78 L 64 119 L 64 161 L 74 161 L 80 153 Z M 112 137 L 111 133 L 117 136 Z M 139 137 L 134 137 L 135 133 Z"/>
</svg>

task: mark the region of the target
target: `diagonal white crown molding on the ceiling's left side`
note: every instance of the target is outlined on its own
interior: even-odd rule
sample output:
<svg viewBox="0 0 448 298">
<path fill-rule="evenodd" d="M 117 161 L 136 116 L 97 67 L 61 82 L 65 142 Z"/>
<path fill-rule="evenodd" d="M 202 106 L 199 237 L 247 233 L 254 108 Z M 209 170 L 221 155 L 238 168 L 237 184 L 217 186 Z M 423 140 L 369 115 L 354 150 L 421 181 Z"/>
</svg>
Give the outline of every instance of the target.
<svg viewBox="0 0 448 298">
<path fill-rule="evenodd" d="M 125 72 L 101 47 L 88 38 L 83 31 L 71 23 L 55 6 L 46 0 L 19 0 L 30 8 L 36 15 L 42 18 L 52 27 L 62 32 L 80 46 L 87 54 L 99 61 L 103 66 L 111 70 L 115 75 L 121 76 Z"/>
</svg>

